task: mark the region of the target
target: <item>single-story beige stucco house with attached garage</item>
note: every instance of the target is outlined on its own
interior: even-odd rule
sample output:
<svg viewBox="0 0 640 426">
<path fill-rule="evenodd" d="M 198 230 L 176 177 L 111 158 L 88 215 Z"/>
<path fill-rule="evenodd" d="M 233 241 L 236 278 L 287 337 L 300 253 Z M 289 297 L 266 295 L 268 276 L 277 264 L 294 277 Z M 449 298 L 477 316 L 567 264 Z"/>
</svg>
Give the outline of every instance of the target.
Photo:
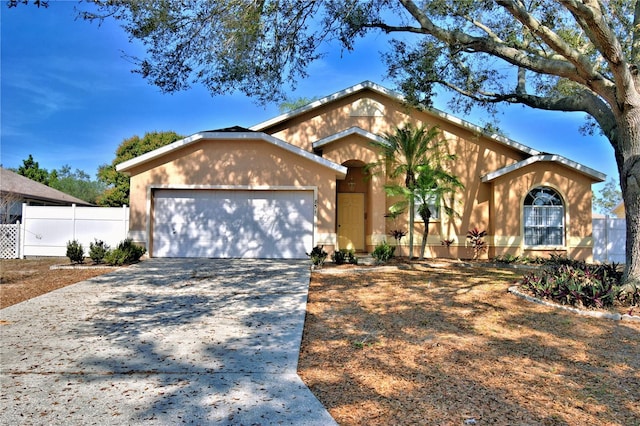
<svg viewBox="0 0 640 426">
<path fill-rule="evenodd" d="M 398 226 L 371 142 L 408 122 L 438 126 L 457 154 L 455 217 L 430 224 L 428 256 L 592 258 L 591 185 L 605 175 L 364 82 L 250 129 L 193 134 L 117 166 L 131 177 L 130 237 L 152 257 L 304 258 L 316 245 L 373 251 Z M 406 221 L 402 223 L 406 230 Z M 416 223 L 416 245 L 423 224 Z M 399 254 L 408 255 L 408 238 Z M 450 247 L 441 244 L 453 240 Z M 417 247 L 414 255 L 417 255 Z"/>
</svg>

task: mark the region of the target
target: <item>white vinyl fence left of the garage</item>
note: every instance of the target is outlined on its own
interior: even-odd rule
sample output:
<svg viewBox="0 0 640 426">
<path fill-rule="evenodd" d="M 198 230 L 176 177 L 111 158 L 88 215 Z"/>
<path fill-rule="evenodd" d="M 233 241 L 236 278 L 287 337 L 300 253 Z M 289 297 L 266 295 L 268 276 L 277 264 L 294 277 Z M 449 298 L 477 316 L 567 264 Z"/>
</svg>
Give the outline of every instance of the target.
<svg viewBox="0 0 640 426">
<path fill-rule="evenodd" d="M 67 242 L 77 240 L 89 254 L 89 244 L 102 240 L 115 247 L 127 238 L 129 207 L 22 205 L 19 255 L 66 256 Z"/>
</svg>

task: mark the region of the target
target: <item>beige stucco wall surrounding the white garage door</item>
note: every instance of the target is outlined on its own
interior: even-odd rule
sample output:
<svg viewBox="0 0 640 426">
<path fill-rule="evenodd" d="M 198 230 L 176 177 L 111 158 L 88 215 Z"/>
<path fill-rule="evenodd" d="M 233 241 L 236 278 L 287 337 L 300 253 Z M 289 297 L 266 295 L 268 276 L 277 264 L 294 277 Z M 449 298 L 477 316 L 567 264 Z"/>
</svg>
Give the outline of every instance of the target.
<svg viewBox="0 0 640 426">
<path fill-rule="evenodd" d="M 335 232 L 336 172 L 262 140 L 203 140 L 129 173 L 132 235 L 153 234 L 149 188 L 196 186 L 314 187 L 316 235 Z"/>
</svg>

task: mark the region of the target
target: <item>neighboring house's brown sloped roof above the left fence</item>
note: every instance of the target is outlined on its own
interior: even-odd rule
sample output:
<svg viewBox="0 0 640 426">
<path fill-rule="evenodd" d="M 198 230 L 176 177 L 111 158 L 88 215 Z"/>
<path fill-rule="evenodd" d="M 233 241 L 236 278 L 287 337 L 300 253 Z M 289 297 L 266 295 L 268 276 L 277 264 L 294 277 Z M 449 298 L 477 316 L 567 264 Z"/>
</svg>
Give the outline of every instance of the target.
<svg viewBox="0 0 640 426">
<path fill-rule="evenodd" d="M 40 182 L 36 182 L 22 175 L 0 167 L 0 191 L 15 194 L 20 198 L 41 200 L 51 203 L 79 204 L 91 206 L 79 198 L 65 194 Z"/>
</svg>

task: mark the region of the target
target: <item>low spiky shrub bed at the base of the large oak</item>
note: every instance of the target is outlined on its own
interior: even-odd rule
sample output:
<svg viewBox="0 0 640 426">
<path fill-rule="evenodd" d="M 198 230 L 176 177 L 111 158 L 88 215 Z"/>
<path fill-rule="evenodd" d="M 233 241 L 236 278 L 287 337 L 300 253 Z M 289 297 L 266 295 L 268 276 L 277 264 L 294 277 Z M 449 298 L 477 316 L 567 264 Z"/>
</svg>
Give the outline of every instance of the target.
<svg viewBox="0 0 640 426">
<path fill-rule="evenodd" d="M 563 305 L 606 308 L 620 295 L 621 276 L 617 265 L 560 263 L 525 275 L 522 285 L 536 297 Z"/>
</svg>

